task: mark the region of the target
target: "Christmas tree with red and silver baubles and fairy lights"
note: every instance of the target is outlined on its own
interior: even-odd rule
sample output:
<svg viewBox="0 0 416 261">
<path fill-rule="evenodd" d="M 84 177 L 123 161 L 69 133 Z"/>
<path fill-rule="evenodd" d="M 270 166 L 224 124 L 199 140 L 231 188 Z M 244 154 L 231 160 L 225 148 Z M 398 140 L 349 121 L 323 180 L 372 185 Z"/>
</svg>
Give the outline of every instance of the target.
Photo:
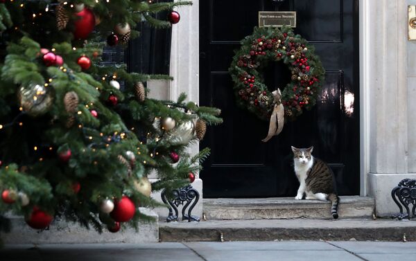
<svg viewBox="0 0 416 261">
<path fill-rule="evenodd" d="M 147 98 L 146 82 L 168 75 L 101 62 L 103 47 L 139 36 L 138 23 L 166 28 L 180 19 L 173 8 L 189 4 L 1 1 L 0 231 L 9 212 L 37 229 L 55 217 L 99 232 L 137 227 L 150 219 L 138 207 L 158 206 L 152 190 L 195 179 L 209 151 L 189 155 L 187 145 L 221 123 L 220 111 L 184 94 Z M 162 11 L 166 20 L 155 16 Z"/>
</svg>

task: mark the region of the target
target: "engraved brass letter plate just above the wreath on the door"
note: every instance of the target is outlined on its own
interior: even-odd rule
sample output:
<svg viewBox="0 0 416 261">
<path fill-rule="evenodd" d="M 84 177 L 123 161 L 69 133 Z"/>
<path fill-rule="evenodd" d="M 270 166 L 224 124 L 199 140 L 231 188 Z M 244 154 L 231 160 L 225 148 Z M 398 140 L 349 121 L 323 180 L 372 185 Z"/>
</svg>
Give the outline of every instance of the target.
<svg viewBox="0 0 416 261">
<path fill-rule="evenodd" d="M 296 12 L 259 11 L 259 27 L 296 27 Z"/>
</svg>

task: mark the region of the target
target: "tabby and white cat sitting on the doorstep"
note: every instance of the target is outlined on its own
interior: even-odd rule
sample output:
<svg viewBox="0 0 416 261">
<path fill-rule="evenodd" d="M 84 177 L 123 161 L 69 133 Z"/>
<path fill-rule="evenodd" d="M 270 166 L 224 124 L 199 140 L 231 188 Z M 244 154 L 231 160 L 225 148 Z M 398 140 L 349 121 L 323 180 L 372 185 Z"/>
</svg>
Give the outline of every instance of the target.
<svg viewBox="0 0 416 261">
<path fill-rule="evenodd" d="M 313 147 L 298 149 L 292 146 L 295 173 L 300 182 L 295 199 L 302 199 L 304 193 L 306 199 L 329 199 L 332 202 L 332 217 L 336 219 L 340 199 L 336 195 L 333 172 L 327 163 L 312 156 L 312 150 Z"/>
</svg>

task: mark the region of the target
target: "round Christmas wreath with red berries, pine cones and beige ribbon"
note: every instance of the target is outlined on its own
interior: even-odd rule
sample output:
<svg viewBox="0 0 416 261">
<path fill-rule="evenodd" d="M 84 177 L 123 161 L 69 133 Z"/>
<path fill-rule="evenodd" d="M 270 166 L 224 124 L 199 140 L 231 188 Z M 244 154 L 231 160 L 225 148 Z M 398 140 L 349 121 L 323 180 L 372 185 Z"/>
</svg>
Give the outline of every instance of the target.
<svg viewBox="0 0 416 261">
<path fill-rule="evenodd" d="M 270 91 L 263 83 L 261 71 L 270 61 L 284 62 L 291 71 L 292 80 L 281 93 Z M 289 27 L 254 28 L 254 33 L 245 37 L 235 51 L 229 73 L 237 103 L 263 120 L 271 117 L 270 129 L 277 129 L 275 121 L 280 118 L 279 132 L 283 118 L 293 120 L 315 105 L 324 80 L 324 69 L 313 46 Z"/>
</svg>

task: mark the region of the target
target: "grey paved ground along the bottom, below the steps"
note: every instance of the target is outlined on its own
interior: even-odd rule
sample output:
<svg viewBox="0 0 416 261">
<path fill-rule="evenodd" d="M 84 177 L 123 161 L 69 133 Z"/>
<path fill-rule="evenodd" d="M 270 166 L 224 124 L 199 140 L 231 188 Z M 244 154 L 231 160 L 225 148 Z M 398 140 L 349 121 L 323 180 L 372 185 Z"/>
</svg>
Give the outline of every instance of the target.
<svg viewBox="0 0 416 261">
<path fill-rule="evenodd" d="M 188 242 L 6 245 L 1 261 L 416 260 L 416 242 Z"/>
</svg>

